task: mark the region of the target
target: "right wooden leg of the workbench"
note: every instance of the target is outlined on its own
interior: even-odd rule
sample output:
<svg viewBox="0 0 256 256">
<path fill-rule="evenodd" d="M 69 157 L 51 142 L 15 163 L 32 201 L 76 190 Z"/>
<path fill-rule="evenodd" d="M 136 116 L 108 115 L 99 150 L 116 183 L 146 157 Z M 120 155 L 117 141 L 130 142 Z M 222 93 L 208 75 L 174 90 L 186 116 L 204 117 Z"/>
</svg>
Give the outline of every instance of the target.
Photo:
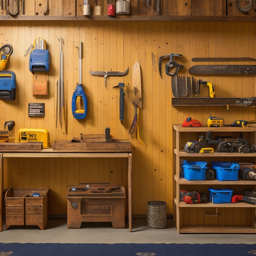
<svg viewBox="0 0 256 256">
<path fill-rule="evenodd" d="M 128 224 L 129 224 L 129 232 L 133 231 L 133 200 L 132 200 L 132 164 L 133 163 L 133 155 L 132 153 L 128 154 Z"/>
</svg>

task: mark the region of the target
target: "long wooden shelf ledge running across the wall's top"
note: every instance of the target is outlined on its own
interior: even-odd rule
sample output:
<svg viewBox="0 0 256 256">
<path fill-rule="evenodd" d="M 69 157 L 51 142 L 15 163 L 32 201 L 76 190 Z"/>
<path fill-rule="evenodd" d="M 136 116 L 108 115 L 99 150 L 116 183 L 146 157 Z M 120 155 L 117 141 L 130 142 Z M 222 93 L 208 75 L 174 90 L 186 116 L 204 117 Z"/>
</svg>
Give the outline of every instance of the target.
<svg viewBox="0 0 256 256">
<path fill-rule="evenodd" d="M 51 15 L 0 15 L 0 21 L 256 21 L 255 15 L 91 15 L 80 16 L 51 16 Z"/>
</svg>

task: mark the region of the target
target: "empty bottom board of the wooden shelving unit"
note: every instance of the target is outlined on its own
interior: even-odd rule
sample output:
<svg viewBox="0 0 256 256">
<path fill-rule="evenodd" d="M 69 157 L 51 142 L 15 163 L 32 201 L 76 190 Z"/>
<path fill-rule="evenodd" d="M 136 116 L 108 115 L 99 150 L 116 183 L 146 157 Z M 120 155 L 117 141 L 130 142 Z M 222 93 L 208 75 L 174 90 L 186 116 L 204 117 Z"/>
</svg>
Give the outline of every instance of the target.
<svg viewBox="0 0 256 256">
<path fill-rule="evenodd" d="M 251 226 L 182 226 L 180 233 L 256 233 Z"/>
</svg>

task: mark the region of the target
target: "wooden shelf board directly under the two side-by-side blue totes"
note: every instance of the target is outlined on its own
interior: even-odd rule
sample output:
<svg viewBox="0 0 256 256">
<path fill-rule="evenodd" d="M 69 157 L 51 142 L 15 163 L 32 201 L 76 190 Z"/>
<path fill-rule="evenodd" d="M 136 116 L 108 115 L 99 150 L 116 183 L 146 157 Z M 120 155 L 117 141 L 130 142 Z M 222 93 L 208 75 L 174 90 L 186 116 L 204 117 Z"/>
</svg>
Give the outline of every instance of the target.
<svg viewBox="0 0 256 256">
<path fill-rule="evenodd" d="M 256 185 L 256 181 L 246 181 L 243 179 L 239 179 L 238 181 L 218 181 L 214 180 L 205 180 L 205 181 L 188 181 L 185 178 L 177 179 L 177 175 L 174 175 L 174 180 L 176 183 L 181 185 Z"/>
</svg>

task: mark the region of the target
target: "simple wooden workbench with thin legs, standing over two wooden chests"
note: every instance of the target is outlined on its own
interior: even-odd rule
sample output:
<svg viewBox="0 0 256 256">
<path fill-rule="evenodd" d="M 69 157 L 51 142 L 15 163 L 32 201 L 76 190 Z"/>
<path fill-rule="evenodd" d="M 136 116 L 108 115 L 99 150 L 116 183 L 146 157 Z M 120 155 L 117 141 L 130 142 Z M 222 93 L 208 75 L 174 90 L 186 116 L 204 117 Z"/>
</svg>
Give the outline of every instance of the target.
<svg viewBox="0 0 256 256">
<path fill-rule="evenodd" d="M 40 151 L 19 150 L 0 153 L 0 231 L 2 231 L 2 205 L 3 205 L 3 172 L 4 158 L 128 158 L 128 225 L 132 232 L 132 149 L 126 150 L 52 150 L 45 148 Z"/>
</svg>

